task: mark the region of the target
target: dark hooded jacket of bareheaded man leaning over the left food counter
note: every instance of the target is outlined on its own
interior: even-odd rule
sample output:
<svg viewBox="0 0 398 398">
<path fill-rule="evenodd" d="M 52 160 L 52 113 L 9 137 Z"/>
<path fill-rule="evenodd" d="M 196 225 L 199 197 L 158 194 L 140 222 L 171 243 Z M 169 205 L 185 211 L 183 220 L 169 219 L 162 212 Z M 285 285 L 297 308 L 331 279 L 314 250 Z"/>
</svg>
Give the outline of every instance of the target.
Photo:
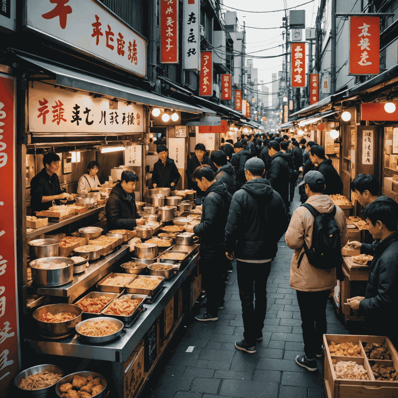
<svg viewBox="0 0 398 398">
<path fill-rule="evenodd" d="M 193 232 L 200 237 L 199 254 L 202 258 L 224 259 L 224 231 L 232 195 L 222 181 L 216 181 L 205 192 L 200 224 Z"/>
</svg>

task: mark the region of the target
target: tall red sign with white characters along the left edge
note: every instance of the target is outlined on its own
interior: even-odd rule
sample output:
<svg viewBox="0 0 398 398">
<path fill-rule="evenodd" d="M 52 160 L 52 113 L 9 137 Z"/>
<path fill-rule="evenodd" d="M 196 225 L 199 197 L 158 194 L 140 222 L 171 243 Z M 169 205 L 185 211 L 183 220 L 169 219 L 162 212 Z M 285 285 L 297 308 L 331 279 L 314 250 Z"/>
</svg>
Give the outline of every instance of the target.
<svg viewBox="0 0 398 398">
<path fill-rule="evenodd" d="M 0 396 L 11 396 L 20 344 L 16 293 L 15 78 L 0 74 Z"/>
</svg>

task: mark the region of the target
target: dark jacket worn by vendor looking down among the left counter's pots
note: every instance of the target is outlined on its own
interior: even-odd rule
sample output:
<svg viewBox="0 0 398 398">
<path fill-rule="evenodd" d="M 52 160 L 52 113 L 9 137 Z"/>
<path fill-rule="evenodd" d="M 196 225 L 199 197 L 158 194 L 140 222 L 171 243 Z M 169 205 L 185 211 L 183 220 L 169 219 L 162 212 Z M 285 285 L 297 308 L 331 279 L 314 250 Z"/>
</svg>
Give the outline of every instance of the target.
<svg viewBox="0 0 398 398">
<path fill-rule="evenodd" d="M 108 231 L 113 229 L 132 230 L 137 226 L 135 219 L 139 218 L 134 192 L 127 195 L 120 182 L 117 183 L 111 190 L 105 212 Z"/>
</svg>

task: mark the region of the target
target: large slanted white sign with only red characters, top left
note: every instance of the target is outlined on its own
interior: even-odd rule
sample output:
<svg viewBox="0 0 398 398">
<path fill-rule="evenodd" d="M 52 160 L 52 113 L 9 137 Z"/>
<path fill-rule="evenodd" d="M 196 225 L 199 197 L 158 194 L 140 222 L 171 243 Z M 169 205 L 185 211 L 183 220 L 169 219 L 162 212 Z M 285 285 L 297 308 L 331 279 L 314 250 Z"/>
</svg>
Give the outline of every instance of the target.
<svg viewBox="0 0 398 398">
<path fill-rule="evenodd" d="M 145 76 L 146 40 L 100 2 L 29 0 L 26 4 L 25 25 L 29 29 L 108 64 Z"/>
</svg>

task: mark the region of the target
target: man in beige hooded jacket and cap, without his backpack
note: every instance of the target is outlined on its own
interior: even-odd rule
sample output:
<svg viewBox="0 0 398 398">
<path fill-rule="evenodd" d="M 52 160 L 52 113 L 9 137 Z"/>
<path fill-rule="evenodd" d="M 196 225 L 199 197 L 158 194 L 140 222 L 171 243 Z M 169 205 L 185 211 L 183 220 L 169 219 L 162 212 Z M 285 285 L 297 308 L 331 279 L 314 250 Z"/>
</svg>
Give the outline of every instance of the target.
<svg viewBox="0 0 398 398">
<path fill-rule="evenodd" d="M 308 203 L 319 213 L 331 213 L 335 207 L 329 195 L 323 195 L 324 176 L 315 170 L 304 176 L 305 193 Z M 334 219 L 340 231 L 340 243 L 343 247 L 348 241 L 347 222 L 343 211 L 336 206 Z M 314 217 L 308 209 L 300 206 L 293 213 L 285 240 L 289 248 L 295 249 L 290 267 L 289 285 L 296 290 L 301 313 L 301 328 L 305 355 L 297 356 L 296 363 L 309 371 L 316 371 L 316 357 L 322 357 L 322 337 L 326 333 L 326 303 L 330 290 L 337 285 L 336 268 L 320 269 L 313 267 L 304 254 L 300 266 L 298 259 L 304 251 L 304 240 L 311 247 Z M 340 265 L 340 264 L 336 264 Z"/>
</svg>

